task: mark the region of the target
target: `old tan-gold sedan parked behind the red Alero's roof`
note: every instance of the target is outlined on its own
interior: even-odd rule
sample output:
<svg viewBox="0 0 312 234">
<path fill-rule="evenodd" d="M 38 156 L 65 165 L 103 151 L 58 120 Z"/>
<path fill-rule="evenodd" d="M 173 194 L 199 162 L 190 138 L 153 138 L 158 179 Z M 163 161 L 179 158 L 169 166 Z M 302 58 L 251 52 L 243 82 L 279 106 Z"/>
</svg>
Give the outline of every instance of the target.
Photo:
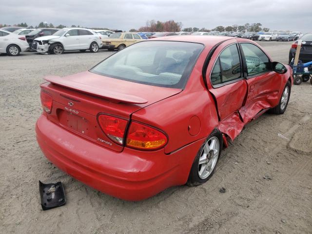
<svg viewBox="0 0 312 234">
<path fill-rule="evenodd" d="M 108 38 L 102 39 L 102 49 L 122 50 L 125 47 L 143 40 L 136 33 L 113 33 Z"/>
</svg>

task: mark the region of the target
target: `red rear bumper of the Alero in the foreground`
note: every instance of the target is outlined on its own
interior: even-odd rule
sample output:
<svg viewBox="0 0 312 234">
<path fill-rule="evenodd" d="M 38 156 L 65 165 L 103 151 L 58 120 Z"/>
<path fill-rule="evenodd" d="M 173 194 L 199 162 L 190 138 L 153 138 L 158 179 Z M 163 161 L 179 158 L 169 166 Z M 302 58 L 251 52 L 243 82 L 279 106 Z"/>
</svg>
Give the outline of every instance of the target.
<svg viewBox="0 0 312 234">
<path fill-rule="evenodd" d="M 59 169 L 81 182 L 125 200 L 142 200 L 164 189 L 185 184 L 204 139 L 173 154 L 124 148 L 114 152 L 39 117 L 37 141 L 44 155 Z"/>
</svg>

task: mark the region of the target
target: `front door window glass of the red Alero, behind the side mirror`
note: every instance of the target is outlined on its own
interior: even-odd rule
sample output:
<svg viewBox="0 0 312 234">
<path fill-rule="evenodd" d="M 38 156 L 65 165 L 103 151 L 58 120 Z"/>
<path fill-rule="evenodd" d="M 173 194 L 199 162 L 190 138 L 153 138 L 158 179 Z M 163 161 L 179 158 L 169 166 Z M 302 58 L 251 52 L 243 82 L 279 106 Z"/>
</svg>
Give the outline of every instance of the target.
<svg viewBox="0 0 312 234">
<path fill-rule="evenodd" d="M 255 76 L 271 71 L 271 62 L 268 56 L 254 44 L 241 43 L 245 55 L 248 76 Z"/>
</svg>

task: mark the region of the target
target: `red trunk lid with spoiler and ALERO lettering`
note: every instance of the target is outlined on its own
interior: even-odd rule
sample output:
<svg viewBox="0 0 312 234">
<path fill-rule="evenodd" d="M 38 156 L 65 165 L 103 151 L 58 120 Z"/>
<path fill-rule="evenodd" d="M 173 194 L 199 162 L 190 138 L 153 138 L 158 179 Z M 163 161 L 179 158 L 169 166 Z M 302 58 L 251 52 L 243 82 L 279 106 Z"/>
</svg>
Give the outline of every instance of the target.
<svg viewBox="0 0 312 234">
<path fill-rule="evenodd" d="M 53 98 L 52 112 L 47 118 L 68 131 L 118 152 L 123 146 L 102 132 L 97 120 L 99 113 L 129 121 L 132 113 L 181 92 L 181 89 L 139 84 L 91 72 L 45 79 L 49 82 L 40 87 Z"/>
</svg>

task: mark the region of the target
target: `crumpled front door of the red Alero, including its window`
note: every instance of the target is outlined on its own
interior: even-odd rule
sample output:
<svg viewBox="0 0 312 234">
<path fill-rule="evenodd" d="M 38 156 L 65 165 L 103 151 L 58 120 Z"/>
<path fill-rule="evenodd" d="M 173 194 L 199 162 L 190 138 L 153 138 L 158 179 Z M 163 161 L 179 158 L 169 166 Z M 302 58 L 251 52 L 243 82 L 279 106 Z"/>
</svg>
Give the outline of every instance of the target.
<svg viewBox="0 0 312 234">
<path fill-rule="evenodd" d="M 245 67 L 248 94 L 239 113 L 245 123 L 278 104 L 282 75 L 273 72 L 271 60 L 257 45 L 239 43 Z"/>
</svg>

